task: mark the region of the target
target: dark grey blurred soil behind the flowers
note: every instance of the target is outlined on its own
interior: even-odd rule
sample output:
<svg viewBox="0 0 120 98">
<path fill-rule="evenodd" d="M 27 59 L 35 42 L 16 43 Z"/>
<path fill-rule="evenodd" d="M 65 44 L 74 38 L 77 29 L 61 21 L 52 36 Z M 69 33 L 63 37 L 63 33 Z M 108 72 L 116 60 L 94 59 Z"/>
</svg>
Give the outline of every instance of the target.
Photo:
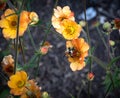
<svg viewBox="0 0 120 98">
<path fill-rule="evenodd" d="M 70 6 L 75 14 L 76 22 L 79 22 L 81 19 L 79 19 L 78 16 L 84 10 L 83 1 L 84 0 L 58 0 L 58 5 L 62 7 L 65 5 Z M 30 10 L 37 12 L 41 20 L 40 25 L 30 28 L 37 48 L 39 48 L 40 42 L 45 37 L 45 28 L 51 22 L 54 4 L 55 0 L 32 0 Z M 97 11 L 97 15 L 88 21 L 91 44 L 92 47 L 95 48 L 94 55 L 100 60 L 107 62 L 107 50 L 103 43 L 101 43 L 102 40 L 97 29 L 94 27 L 94 23 L 99 21 L 101 16 L 105 17 L 105 21 L 112 21 L 116 17 L 120 18 L 120 1 L 88 0 L 87 8 L 89 7 L 93 7 Z M 102 11 L 99 11 L 100 8 Z M 102 25 L 99 29 L 103 31 Z M 25 54 L 26 60 L 28 61 L 32 58 L 34 49 L 27 33 L 24 36 L 24 46 L 26 47 Z M 104 34 L 102 36 L 106 38 Z M 118 30 L 111 33 L 111 39 L 116 42 L 116 45 L 114 46 L 116 47 L 115 55 L 119 56 L 120 33 Z M 86 65 L 81 71 L 71 71 L 69 62 L 65 57 L 65 40 L 60 34 L 55 32 L 53 27 L 47 36 L 47 41 L 53 45 L 53 48 L 50 49 L 47 55 L 41 58 L 39 63 L 40 68 L 37 82 L 41 86 L 42 91 L 47 91 L 51 98 L 88 98 L 88 81 L 86 76 L 89 72 L 89 65 Z M 4 50 L 7 47 L 7 44 L 8 42 L 0 33 L 0 48 Z M 21 59 L 21 56 L 19 58 Z M 118 64 L 120 65 L 120 62 L 118 62 Z M 32 72 L 29 73 L 31 78 L 33 78 L 32 74 L 34 74 L 34 70 L 35 69 L 32 69 Z M 106 74 L 105 70 L 96 62 L 93 62 L 92 72 L 95 74 L 95 78 L 92 81 L 90 96 L 91 98 L 104 98 L 105 86 L 103 85 L 103 81 Z M 120 92 L 120 90 L 118 90 L 117 93 L 118 92 Z M 111 92 L 106 98 L 120 98 L 120 95 L 118 96 L 117 93 Z"/>
</svg>

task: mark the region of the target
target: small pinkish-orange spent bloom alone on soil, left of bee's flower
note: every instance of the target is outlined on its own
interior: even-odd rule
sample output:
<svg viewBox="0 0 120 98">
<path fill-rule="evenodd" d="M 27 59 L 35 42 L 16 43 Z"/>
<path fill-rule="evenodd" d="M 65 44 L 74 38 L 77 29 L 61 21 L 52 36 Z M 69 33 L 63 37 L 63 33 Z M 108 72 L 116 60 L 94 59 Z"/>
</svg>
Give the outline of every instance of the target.
<svg viewBox="0 0 120 98">
<path fill-rule="evenodd" d="M 52 48 L 52 45 L 49 42 L 44 42 L 43 46 L 40 47 L 40 52 L 45 55 L 48 53 L 48 50 Z"/>
</svg>

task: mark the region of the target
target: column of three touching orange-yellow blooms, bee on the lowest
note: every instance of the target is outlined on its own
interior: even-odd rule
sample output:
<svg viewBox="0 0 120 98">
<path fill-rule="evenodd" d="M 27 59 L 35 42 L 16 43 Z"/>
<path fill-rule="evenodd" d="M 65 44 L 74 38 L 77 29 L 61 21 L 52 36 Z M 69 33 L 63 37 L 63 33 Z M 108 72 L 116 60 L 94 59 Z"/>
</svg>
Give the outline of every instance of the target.
<svg viewBox="0 0 120 98">
<path fill-rule="evenodd" d="M 57 6 L 52 16 L 52 25 L 66 39 L 66 56 L 71 63 L 72 71 L 85 67 L 85 57 L 88 56 L 89 45 L 79 38 L 82 27 L 75 22 L 74 13 L 69 6 Z"/>
</svg>

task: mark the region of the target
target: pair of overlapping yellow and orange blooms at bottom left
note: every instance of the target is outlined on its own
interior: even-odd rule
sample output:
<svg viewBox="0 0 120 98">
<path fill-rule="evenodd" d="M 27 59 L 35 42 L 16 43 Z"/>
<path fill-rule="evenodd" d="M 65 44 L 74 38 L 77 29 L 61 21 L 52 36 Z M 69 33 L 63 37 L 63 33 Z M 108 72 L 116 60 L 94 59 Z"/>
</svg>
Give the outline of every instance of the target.
<svg viewBox="0 0 120 98">
<path fill-rule="evenodd" d="M 25 71 L 17 71 L 10 77 L 8 81 L 10 93 L 13 95 L 20 95 L 20 98 L 41 98 L 40 88 L 36 85 L 34 80 L 28 80 Z"/>
</svg>

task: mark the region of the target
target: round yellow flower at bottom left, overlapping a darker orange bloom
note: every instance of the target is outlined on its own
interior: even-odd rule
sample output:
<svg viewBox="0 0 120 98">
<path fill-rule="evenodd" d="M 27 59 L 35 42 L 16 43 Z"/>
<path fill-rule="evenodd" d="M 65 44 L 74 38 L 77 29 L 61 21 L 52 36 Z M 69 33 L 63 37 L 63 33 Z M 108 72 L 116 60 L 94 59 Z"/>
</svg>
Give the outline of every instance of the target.
<svg viewBox="0 0 120 98">
<path fill-rule="evenodd" d="M 27 73 L 25 71 L 18 71 L 15 75 L 10 77 L 8 86 L 11 88 L 10 93 L 13 95 L 21 95 L 24 93 L 27 83 Z"/>
</svg>

